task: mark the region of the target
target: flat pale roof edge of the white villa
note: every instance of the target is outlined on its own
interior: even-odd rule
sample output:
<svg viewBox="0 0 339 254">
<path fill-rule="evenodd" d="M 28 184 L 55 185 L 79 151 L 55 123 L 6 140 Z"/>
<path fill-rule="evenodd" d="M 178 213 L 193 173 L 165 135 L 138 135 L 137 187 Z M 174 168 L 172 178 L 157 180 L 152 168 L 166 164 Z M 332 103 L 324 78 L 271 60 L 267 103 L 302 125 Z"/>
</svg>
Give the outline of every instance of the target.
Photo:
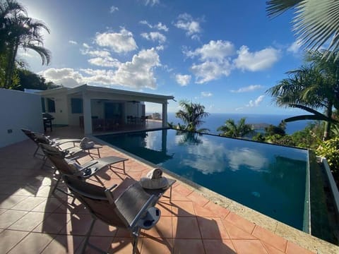
<svg viewBox="0 0 339 254">
<path fill-rule="evenodd" d="M 133 92 L 127 90 L 118 90 L 109 87 L 97 87 L 92 85 L 80 85 L 78 87 L 59 87 L 51 90 L 44 90 L 39 92 L 42 96 L 53 96 L 59 93 L 66 92 L 67 95 L 82 96 L 83 92 L 87 92 L 91 98 L 95 99 L 112 99 L 112 97 L 119 99 L 126 99 L 131 101 L 145 101 L 145 102 L 165 102 L 168 99 L 174 99 L 172 95 L 155 95 L 145 92 Z"/>
</svg>

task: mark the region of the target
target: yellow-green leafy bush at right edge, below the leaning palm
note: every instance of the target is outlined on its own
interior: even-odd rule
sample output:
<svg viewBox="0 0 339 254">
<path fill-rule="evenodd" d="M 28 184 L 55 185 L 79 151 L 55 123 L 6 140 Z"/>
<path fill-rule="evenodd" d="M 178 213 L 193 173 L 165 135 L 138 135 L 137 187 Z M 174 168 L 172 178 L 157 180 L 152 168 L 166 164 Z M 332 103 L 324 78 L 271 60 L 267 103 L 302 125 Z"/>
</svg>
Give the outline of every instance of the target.
<svg viewBox="0 0 339 254">
<path fill-rule="evenodd" d="M 323 141 L 316 150 L 316 155 L 326 157 L 336 181 L 339 179 L 339 137 Z"/>
</svg>

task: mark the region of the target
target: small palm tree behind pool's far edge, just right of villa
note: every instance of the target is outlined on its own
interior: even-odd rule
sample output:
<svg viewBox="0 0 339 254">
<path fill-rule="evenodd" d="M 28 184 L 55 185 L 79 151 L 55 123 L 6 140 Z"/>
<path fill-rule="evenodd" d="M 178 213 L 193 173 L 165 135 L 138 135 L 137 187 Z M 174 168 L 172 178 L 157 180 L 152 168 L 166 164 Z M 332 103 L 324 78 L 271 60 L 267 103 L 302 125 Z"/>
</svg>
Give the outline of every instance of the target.
<svg viewBox="0 0 339 254">
<path fill-rule="evenodd" d="M 175 117 L 182 119 L 186 125 L 178 125 L 181 130 L 184 131 L 197 131 L 208 132 L 207 128 L 196 129 L 201 126 L 204 121 L 204 117 L 209 116 L 209 113 L 205 111 L 205 107 L 199 103 L 187 102 L 182 100 L 179 102 L 180 109 L 175 113 Z"/>
</svg>

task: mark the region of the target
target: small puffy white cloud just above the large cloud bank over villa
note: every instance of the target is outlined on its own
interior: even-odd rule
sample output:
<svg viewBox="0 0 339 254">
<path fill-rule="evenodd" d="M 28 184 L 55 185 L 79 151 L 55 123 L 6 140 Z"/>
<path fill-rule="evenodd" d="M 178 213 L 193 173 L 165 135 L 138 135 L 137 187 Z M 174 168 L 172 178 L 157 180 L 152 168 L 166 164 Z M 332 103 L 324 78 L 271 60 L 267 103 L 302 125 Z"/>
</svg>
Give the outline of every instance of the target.
<svg viewBox="0 0 339 254">
<path fill-rule="evenodd" d="M 101 47 L 109 47 L 114 52 L 131 52 L 138 48 L 132 32 L 121 28 L 120 32 L 104 32 L 95 35 L 95 42 Z"/>
</svg>

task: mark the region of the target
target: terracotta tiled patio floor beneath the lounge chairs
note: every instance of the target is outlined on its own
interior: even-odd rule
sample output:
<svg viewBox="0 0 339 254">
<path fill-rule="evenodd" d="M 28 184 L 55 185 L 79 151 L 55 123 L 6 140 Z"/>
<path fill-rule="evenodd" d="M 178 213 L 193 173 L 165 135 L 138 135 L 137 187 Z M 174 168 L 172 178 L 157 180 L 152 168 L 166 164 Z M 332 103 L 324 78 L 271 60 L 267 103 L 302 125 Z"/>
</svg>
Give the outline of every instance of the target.
<svg viewBox="0 0 339 254">
<path fill-rule="evenodd" d="M 90 214 L 79 202 L 69 205 L 71 198 L 60 192 L 58 197 L 50 195 L 53 171 L 41 169 L 42 160 L 32 157 L 34 150 L 31 140 L 0 149 L 0 253 L 77 253 Z M 128 157 L 105 145 L 101 155 Z M 128 158 L 126 174 L 102 171 L 100 180 L 105 186 L 126 177 L 138 180 L 151 169 Z M 83 157 L 81 162 L 88 159 Z M 160 221 L 143 231 L 140 253 L 311 253 L 215 205 L 180 181 L 174 185 L 172 202 L 163 197 L 157 207 L 162 212 Z M 131 238 L 126 233 L 97 223 L 90 241 L 109 253 L 131 253 Z"/>
</svg>

